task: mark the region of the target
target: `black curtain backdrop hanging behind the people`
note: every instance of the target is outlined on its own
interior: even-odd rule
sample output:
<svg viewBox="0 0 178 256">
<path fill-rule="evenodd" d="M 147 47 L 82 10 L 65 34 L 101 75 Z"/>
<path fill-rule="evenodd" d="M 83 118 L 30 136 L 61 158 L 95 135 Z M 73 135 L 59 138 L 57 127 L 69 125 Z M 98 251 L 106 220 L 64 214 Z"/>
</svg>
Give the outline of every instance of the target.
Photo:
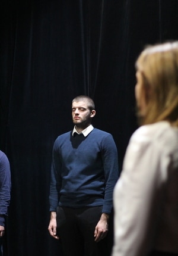
<svg viewBox="0 0 178 256">
<path fill-rule="evenodd" d="M 1 0 L 0 148 L 11 164 L 8 256 L 59 256 L 50 238 L 52 146 L 71 101 L 96 103 L 94 126 L 123 155 L 135 120 L 135 68 L 147 44 L 178 37 L 177 0 Z"/>
</svg>

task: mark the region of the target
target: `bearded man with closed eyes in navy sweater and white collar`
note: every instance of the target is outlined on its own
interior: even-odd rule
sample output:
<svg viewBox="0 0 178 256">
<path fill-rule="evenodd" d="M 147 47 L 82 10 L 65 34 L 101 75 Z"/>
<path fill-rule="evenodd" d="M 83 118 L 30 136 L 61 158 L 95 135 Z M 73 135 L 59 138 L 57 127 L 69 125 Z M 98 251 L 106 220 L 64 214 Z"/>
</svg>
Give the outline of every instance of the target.
<svg viewBox="0 0 178 256">
<path fill-rule="evenodd" d="M 110 255 L 109 221 L 118 179 L 117 149 L 112 135 L 94 128 L 94 102 L 72 101 L 71 132 L 53 146 L 49 233 L 60 239 L 65 256 Z"/>
</svg>

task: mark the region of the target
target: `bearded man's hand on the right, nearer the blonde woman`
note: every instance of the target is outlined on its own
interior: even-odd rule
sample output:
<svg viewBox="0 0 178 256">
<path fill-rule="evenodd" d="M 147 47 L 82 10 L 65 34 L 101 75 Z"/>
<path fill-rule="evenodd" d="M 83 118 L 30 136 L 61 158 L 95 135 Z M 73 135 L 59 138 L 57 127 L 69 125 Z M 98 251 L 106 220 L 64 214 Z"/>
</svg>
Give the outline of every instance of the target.
<svg viewBox="0 0 178 256">
<path fill-rule="evenodd" d="M 94 241 L 99 242 L 101 239 L 105 238 L 108 232 L 108 220 L 109 220 L 109 214 L 102 213 L 101 218 L 97 223 L 97 226 L 94 230 Z"/>
</svg>

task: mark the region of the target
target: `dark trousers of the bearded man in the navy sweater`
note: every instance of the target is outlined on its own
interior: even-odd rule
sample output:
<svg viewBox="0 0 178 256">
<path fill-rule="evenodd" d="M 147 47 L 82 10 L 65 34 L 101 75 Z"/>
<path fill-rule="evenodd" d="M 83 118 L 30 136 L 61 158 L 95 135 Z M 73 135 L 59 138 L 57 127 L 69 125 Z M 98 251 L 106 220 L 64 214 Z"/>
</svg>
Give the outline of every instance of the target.
<svg viewBox="0 0 178 256">
<path fill-rule="evenodd" d="M 112 251 L 112 218 L 109 233 L 100 242 L 94 242 L 94 230 L 103 207 L 71 209 L 58 207 L 57 233 L 65 256 L 110 256 Z"/>
</svg>

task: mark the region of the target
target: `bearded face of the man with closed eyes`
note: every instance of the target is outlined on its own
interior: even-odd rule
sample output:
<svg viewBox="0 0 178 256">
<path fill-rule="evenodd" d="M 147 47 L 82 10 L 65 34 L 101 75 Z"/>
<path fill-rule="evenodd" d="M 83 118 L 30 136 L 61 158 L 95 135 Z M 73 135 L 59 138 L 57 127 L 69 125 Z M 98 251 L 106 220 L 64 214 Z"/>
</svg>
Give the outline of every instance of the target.
<svg viewBox="0 0 178 256">
<path fill-rule="evenodd" d="M 87 101 L 74 101 L 72 103 L 72 120 L 77 127 L 85 129 L 91 124 L 91 118 L 94 115 L 95 111 L 89 110 Z"/>
</svg>

